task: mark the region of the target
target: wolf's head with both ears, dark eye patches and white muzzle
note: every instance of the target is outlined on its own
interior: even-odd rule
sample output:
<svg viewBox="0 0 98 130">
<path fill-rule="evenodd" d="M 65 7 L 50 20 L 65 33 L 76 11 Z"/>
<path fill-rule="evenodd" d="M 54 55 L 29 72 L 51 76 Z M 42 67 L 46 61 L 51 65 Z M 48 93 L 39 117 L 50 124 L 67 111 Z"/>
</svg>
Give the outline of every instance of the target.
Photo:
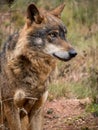
<svg viewBox="0 0 98 130">
<path fill-rule="evenodd" d="M 34 4 L 27 8 L 27 21 L 21 33 L 27 48 L 50 57 L 68 61 L 77 55 L 67 41 L 67 29 L 60 19 L 64 4 L 52 11 L 39 10 Z"/>
</svg>

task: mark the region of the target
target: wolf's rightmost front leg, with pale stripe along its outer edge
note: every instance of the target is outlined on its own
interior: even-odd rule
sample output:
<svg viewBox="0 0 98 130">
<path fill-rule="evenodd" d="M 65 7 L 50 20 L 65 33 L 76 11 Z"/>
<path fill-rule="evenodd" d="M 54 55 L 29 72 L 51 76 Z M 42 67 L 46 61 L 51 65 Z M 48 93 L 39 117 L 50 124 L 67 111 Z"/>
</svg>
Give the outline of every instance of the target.
<svg viewBox="0 0 98 130">
<path fill-rule="evenodd" d="M 43 107 L 48 97 L 48 91 L 36 101 L 29 113 L 28 130 L 43 130 Z"/>
</svg>

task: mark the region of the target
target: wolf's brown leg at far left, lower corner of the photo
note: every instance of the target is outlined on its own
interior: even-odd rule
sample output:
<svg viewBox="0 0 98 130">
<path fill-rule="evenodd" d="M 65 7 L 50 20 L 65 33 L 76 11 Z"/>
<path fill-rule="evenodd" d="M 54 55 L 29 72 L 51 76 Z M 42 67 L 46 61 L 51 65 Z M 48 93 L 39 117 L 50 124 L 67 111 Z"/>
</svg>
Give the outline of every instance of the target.
<svg viewBox="0 0 98 130">
<path fill-rule="evenodd" d="M 10 130 L 21 130 L 19 111 L 13 102 L 4 103 L 4 113 Z"/>
</svg>

